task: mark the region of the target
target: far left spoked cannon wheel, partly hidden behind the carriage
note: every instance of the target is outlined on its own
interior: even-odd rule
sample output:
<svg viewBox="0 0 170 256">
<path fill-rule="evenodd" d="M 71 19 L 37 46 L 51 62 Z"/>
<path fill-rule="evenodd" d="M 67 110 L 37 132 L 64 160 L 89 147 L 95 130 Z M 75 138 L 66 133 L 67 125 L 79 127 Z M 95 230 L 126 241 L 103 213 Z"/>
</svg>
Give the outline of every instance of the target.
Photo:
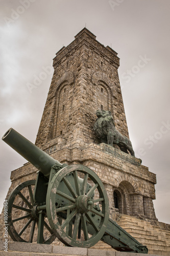
<svg viewBox="0 0 170 256">
<path fill-rule="evenodd" d="M 10 237 L 17 242 L 32 243 L 36 224 L 38 226 L 39 217 L 33 200 L 33 186 L 35 186 L 35 180 L 25 181 L 15 187 L 8 197 L 8 232 Z M 23 191 L 27 193 L 27 197 L 23 195 Z M 14 202 L 17 196 L 19 196 L 20 200 L 19 205 L 15 205 Z M 12 214 L 13 211 L 14 216 Z M 15 224 L 19 228 L 16 228 Z M 43 225 L 50 232 L 50 236 L 44 239 L 42 243 L 51 244 L 56 239 L 56 236 L 45 221 Z M 28 237 L 26 240 L 21 237 L 25 231 Z"/>
</svg>

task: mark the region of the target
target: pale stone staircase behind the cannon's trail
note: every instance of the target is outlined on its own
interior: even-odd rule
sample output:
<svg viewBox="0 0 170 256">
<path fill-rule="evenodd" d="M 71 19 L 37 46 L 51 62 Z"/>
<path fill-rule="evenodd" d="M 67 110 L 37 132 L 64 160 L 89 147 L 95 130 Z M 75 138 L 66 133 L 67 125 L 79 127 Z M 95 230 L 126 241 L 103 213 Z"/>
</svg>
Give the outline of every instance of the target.
<svg viewBox="0 0 170 256">
<path fill-rule="evenodd" d="M 150 222 L 128 215 L 119 215 L 116 222 L 141 244 L 147 245 L 150 254 L 170 256 L 170 231 L 162 230 Z M 92 248 L 114 251 L 111 246 L 102 241 Z"/>
</svg>

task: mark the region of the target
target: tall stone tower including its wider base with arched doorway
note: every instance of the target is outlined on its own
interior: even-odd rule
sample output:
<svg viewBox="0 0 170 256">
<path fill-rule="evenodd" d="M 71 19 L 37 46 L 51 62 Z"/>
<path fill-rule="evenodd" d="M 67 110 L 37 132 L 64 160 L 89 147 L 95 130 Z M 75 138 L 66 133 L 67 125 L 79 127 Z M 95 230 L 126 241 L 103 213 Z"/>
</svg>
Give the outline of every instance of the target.
<svg viewBox="0 0 170 256">
<path fill-rule="evenodd" d="M 93 169 L 105 184 L 111 214 L 155 220 L 155 174 L 139 159 L 100 144 L 93 131 L 96 110 L 110 110 L 116 129 L 129 138 L 119 58 L 95 38 L 84 28 L 57 52 L 36 145 L 62 163 Z"/>
</svg>

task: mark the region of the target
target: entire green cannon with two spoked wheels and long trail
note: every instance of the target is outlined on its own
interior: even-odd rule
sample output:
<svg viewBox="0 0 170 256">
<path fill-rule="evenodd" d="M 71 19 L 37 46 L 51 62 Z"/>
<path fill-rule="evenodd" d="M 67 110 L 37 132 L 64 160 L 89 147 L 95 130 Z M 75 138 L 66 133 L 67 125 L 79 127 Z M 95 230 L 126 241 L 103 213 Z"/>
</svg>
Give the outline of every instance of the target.
<svg viewBox="0 0 170 256">
<path fill-rule="evenodd" d="M 2 138 L 37 169 L 36 180 L 15 187 L 8 197 L 8 232 L 14 241 L 89 248 L 100 240 L 124 252 L 148 253 L 109 219 L 104 184 L 87 166 L 61 164 L 9 129 Z"/>
</svg>

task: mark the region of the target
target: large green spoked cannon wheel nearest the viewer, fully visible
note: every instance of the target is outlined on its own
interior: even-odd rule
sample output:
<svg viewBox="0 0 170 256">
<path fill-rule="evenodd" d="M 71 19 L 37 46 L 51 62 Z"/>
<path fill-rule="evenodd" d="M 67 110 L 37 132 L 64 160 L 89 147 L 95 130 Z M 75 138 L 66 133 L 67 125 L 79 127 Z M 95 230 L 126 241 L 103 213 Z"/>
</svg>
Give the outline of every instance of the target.
<svg viewBox="0 0 170 256">
<path fill-rule="evenodd" d="M 79 179 L 81 174 L 83 179 Z M 72 176 L 71 183 L 69 176 Z M 90 188 L 89 183 L 92 184 Z M 66 189 L 63 190 L 63 185 L 69 193 Z M 95 194 L 98 195 L 97 199 L 93 199 Z M 67 204 L 58 205 L 58 196 Z M 99 203 L 102 209 L 99 208 Z M 57 238 L 66 246 L 89 248 L 96 244 L 107 228 L 108 207 L 108 197 L 102 181 L 86 166 L 66 166 L 48 185 L 46 197 L 48 221 Z"/>
</svg>

